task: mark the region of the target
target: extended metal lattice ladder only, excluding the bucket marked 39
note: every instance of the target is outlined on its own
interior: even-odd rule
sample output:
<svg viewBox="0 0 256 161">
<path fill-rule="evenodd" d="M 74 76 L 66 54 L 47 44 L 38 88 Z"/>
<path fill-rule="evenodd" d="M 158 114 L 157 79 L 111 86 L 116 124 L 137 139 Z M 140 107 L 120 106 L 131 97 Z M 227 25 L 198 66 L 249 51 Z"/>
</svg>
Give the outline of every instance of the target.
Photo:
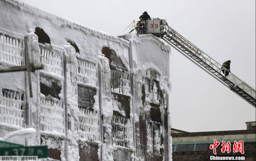
<svg viewBox="0 0 256 161">
<path fill-rule="evenodd" d="M 225 77 L 225 73 L 228 71 L 220 63 L 212 59 L 198 47 L 193 45 L 178 32 L 174 31 L 167 24 L 161 27 L 162 39 L 166 41 L 173 48 L 178 50 L 181 54 L 186 56 L 189 60 L 194 62 L 197 66 L 201 67 L 208 74 L 212 75 L 215 79 L 227 86 L 233 92 L 242 97 L 245 101 L 255 107 L 255 89 L 249 86 L 247 83 L 239 79 L 235 74 L 229 73 Z M 224 68 L 224 74 L 221 74 L 221 69 Z"/>
</svg>

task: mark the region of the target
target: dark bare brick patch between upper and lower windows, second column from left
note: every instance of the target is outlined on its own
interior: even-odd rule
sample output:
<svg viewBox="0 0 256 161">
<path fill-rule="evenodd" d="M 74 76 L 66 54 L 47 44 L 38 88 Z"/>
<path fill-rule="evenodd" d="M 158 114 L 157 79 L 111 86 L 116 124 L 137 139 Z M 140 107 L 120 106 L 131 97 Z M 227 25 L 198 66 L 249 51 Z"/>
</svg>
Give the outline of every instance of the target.
<svg viewBox="0 0 256 161">
<path fill-rule="evenodd" d="M 44 79 L 50 81 L 52 85 L 51 87 L 49 87 L 49 85 L 46 85 L 43 82 L 40 82 L 40 92 L 45 96 L 50 95 L 60 100 L 60 97 L 59 97 L 60 90 L 61 90 L 60 82 L 58 82 L 58 80 L 52 79 L 47 76 L 41 76 L 41 77 L 44 77 Z"/>
</svg>

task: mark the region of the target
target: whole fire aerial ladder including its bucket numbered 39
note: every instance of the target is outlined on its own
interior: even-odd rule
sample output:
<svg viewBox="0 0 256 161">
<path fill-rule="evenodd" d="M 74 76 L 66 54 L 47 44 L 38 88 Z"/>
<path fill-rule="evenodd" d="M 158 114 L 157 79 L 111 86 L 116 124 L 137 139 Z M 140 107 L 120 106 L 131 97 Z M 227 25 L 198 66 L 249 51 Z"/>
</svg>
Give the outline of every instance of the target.
<svg viewBox="0 0 256 161">
<path fill-rule="evenodd" d="M 153 34 L 159 39 L 163 39 L 167 44 L 179 51 L 198 67 L 210 74 L 213 78 L 220 81 L 223 85 L 235 92 L 245 101 L 256 108 L 255 89 L 239 79 L 235 74 L 231 73 L 220 63 L 212 59 L 197 46 L 185 39 L 178 32 L 173 30 L 164 19 L 151 18 L 138 21 L 136 25 L 137 34 Z M 222 74 L 224 71 L 224 74 Z M 222 73 L 221 73 L 222 72 Z M 225 77 L 225 73 L 230 72 Z"/>
</svg>

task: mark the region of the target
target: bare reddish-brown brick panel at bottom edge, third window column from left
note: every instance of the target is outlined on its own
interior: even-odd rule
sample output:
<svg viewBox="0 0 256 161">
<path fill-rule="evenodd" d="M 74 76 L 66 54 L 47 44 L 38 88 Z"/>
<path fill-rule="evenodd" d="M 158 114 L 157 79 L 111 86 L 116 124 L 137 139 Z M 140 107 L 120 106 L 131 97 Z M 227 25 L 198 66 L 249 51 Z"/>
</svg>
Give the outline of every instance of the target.
<svg viewBox="0 0 256 161">
<path fill-rule="evenodd" d="M 79 161 L 99 161 L 98 148 L 94 143 L 79 144 Z"/>
</svg>

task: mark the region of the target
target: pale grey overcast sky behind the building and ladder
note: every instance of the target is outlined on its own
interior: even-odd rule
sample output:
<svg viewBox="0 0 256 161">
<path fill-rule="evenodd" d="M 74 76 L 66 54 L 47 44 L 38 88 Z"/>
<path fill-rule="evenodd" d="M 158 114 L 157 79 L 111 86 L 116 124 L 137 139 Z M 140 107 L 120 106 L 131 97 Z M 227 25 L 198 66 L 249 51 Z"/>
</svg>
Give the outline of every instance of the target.
<svg viewBox="0 0 256 161">
<path fill-rule="evenodd" d="M 144 11 L 255 89 L 255 0 L 23 0 L 89 27 L 120 34 Z M 172 127 L 189 132 L 243 130 L 255 108 L 172 48 Z"/>
</svg>

